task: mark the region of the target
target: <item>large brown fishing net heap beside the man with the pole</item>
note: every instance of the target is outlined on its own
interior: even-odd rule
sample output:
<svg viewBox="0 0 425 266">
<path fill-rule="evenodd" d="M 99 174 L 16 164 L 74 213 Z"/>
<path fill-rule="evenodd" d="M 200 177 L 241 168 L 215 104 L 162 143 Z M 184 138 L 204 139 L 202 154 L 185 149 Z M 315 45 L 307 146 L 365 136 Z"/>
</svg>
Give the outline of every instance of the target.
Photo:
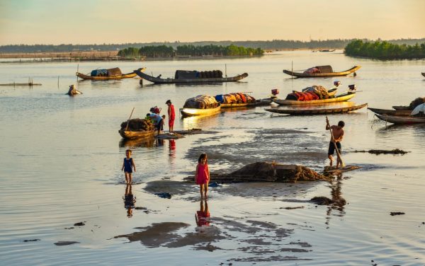
<svg viewBox="0 0 425 266">
<path fill-rule="evenodd" d="M 220 183 L 240 182 L 282 182 L 296 183 L 297 181 L 315 181 L 330 179 L 310 168 L 279 163 L 256 162 L 228 174 L 211 173 L 211 181 Z"/>
</svg>

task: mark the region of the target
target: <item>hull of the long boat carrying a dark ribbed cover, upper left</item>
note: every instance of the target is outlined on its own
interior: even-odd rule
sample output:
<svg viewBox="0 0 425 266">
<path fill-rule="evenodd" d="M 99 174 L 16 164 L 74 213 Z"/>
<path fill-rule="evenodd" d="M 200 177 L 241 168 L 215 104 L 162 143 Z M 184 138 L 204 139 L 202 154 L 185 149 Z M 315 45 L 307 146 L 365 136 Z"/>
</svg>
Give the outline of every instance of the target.
<svg viewBox="0 0 425 266">
<path fill-rule="evenodd" d="M 237 76 L 231 76 L 229 78 L 208 78 L 208 79 L 162 79 L 160 77 L 154 77 L 150 76 L 148 74 L 143 73 L 140 71 L 140 69 L 135 70 L 135 74 L 137 76 L 140 76 L 142 79 L 145 79 L 147 81 L 153 82 L 153 83 L 215 83 L 215 82 L 233 82 L 233 81 L 240 81 L 241 79 L 244 79 L 248 76 L 247 73 L 244 73 L 242 75 Z"/>
</svg>

